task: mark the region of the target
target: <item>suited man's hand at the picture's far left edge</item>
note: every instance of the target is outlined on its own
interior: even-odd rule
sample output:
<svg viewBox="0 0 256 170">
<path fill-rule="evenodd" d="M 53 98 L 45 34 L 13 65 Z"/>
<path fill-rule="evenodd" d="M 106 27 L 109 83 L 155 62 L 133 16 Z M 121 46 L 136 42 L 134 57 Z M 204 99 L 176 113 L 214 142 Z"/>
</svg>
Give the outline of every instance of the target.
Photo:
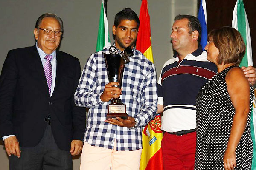
<svg viewBox="0 0 256 170">
<path fill-rule="evenodd" d="M 16 136 L 11 136 L 9 138 L 4 139 L 4 146 L 6 148 L 7 155 L 15 155 L 20 158 L 20 145 Z"/>
</svg>

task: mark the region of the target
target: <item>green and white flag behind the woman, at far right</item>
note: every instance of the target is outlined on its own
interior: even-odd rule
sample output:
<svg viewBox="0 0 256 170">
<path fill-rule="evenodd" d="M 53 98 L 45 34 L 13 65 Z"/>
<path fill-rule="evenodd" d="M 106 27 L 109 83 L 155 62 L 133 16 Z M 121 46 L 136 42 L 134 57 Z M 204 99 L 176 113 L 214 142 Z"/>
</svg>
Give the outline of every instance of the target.
<svg viewBox="0 0 256 170">
<path fill-rule="evenodd" d="M 233 20 L 232 27 L 237 29 L 244 39 L 244 43 L 246 46 L 246 52 L 244 54 L 244 58 L 240 63 L 240 67 L 245 66 L 248 67 L 250 65 L 253 66 L 253 57 L 252 57 L 252 46 L 251 46 L 251 38 L 250 38 L 250 27 L 247 19 L 247 15 L 244 9 L 243 0 L 237 0 L 236 5 L 233 11 Z M 253 102 L 253 111 L 251 113 L 251 136 L 253 139 L 253 160 L 252 160 L 252 170 L 256 170 L 256 108 L 255 108 L 256 98 L 254 96 Z"/>
</svg>

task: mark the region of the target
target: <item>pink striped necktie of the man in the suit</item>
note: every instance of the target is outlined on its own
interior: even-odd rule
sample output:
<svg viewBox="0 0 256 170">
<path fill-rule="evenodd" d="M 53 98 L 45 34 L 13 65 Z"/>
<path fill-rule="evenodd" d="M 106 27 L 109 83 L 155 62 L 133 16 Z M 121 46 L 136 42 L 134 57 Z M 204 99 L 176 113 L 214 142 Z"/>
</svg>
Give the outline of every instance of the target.
<svg viewBox="0 0 256 170">
<path fill-rule="evenodd" d="M 45 77 L 46 77 L 49 93 L 51 94 L 51 89 L 52 89 L 52 63 L 51 63 L 51 59 L 52 59 L 52 56 L 51 55 L 46 55 L 44 57 L 44 59 L 46 59 L 46 62 L 44 64 L 44 74 L 45 74 Z"/>
</svg>

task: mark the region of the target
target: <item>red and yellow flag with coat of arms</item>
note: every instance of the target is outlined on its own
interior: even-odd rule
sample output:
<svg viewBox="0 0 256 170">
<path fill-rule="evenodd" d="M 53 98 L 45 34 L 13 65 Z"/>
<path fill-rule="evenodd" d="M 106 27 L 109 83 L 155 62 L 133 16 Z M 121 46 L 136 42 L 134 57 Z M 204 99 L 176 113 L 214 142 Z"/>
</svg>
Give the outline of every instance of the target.
<svg viewBox="0 0 256 170">
<path fill-rule="evenodd" d="M 151 62 L 154 62 L 151 48 L 150 17 L 148 14 L 147 0 L 142 0 L 140 7 L 140 28 L 137 36 L 136 49 L 141 51 Z M 161 150 L 163 133 L 160 128 L 160 115 L 157 115 L 144 127 L 140 170 L 163 170 Z"/>
</svg>

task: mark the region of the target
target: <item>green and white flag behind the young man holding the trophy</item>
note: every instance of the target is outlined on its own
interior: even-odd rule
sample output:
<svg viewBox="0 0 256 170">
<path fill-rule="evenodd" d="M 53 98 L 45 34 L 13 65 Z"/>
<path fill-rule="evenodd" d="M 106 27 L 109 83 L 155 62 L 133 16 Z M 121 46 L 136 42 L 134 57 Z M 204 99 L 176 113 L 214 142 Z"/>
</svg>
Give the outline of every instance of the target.
<svg viewBox="0 0 256 170">
<path fill-rule="evenodd" d="M 109 47 L 110 39 L 108 35 L 108 19 L 104 8 L 104 0 L 102 0 L 101 12 L 99 17 L 99 30 L 98 30 L 98 39 L 96 52 L 101 51 L 106 47 Z"/>
</svg>

